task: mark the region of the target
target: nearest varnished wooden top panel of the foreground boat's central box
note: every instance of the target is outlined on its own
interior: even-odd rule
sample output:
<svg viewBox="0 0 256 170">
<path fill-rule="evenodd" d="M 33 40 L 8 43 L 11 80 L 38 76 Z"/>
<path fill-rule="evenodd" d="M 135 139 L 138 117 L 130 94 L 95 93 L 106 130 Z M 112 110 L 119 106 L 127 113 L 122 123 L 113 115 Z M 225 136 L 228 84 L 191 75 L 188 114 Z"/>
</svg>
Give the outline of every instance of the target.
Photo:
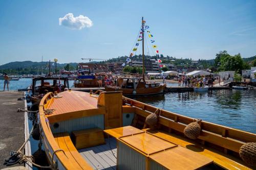
<svg viewBox="0 0 256 170">
<path fill-rule="evenodd" d="M 167 169 L 198 169 L 213 162 L 201 154 L 183 147 L 176 147 L 150 156 L 150 159 Z"/>
</svg>

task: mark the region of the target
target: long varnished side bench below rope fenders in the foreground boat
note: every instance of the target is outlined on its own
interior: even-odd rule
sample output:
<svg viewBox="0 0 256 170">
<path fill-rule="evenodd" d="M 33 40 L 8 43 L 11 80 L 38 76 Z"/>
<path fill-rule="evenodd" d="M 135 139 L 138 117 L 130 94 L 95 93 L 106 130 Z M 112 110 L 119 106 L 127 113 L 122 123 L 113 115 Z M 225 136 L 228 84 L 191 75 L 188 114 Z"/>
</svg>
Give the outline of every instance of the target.
<svg viewBox="0 0 256 170">
<path fill-rule="evenodd" d="M 252 169 L 248 167 L 242 160 L 235 158 L 233 156 L 224 154 L 215 149 L 208 148 L 202 144 L 197 143 L 195 140 L 187 139 L 185 137 L 178 136 L 174 133 L 167 133 L 164 131 L 153 131 L 151 129 L 143 129 L 143 131 L 147 131 L 152 135 L 158 136 L 162 139 L 176 143 L 191 151 L 207 156 L 208 158 L 211 158 L 212 160 L 214 160 L 215 164 L 225 169 Z"/>
</svg>

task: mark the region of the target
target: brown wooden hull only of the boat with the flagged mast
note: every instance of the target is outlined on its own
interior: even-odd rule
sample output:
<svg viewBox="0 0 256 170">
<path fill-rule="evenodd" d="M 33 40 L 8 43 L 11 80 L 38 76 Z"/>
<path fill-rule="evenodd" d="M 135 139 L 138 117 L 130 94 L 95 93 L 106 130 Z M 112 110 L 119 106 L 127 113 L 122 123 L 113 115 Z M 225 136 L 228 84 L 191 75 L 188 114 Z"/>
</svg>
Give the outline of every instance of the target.
<svg viewBox="0 0 256 170">
<path fill-rule="evenodd" d="M 150 88 L 117 88 L 115 86 L 105 86 L 105 91 L 122 91 L 123 95 L 151 95 L 151 94 L 161 94 L 164 91 L 164 85 Z"/>
</svg>

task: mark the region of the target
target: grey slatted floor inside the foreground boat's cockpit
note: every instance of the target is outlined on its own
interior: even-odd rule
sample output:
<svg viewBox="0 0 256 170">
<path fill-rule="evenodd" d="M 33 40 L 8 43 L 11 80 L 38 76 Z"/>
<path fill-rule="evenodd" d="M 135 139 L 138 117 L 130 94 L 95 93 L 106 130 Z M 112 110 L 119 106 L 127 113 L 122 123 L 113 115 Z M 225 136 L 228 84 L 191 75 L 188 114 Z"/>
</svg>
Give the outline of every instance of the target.
<svg viewBox="0 0 256 170">
<path fill-rule="evenodd" d="M 116 139 L 106 138 L 105 142 L 105 144 L 98 145 L 96 147 L 81 149 L 78 150 L 78 152 L 94 169 L 115 170 L 117 156 Z M 111 149 L 115 156 L 111 152 Z"/>
</svg>

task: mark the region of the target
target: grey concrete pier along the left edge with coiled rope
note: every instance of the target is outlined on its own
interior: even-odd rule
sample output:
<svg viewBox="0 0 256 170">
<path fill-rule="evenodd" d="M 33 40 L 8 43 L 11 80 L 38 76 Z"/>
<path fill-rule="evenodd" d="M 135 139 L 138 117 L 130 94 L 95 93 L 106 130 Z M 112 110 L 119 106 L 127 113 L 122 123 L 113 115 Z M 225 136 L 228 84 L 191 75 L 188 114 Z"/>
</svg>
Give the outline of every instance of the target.
<svg viewBox="0 0 256 170">
<path fill-rule="evenodd" d="M 24 112 L 17 112 L 24 108 L 24 101 L 17 100 L 23 96 L 22 91 L 0 92 L 0 169 L 6 167 L 3 163 L 10 151 L 17 151 L 24 142 Z"/>
</svg>

